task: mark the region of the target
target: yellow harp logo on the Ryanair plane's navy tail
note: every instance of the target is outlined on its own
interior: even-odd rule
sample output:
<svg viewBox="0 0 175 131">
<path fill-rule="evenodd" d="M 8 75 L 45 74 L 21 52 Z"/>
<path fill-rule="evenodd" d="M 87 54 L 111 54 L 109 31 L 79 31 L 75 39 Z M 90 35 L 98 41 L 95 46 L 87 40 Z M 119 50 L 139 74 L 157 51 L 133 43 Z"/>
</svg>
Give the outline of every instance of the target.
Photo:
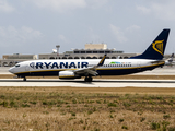
<svg viewBox="0 0 175 131">
<path fill-rule="evenodd" d="M 155 43 L 152 43 L 152 48 L 160 52 L 163 56 L 163 41 L 164 40 L 156 40 Z"/>
</svg>

